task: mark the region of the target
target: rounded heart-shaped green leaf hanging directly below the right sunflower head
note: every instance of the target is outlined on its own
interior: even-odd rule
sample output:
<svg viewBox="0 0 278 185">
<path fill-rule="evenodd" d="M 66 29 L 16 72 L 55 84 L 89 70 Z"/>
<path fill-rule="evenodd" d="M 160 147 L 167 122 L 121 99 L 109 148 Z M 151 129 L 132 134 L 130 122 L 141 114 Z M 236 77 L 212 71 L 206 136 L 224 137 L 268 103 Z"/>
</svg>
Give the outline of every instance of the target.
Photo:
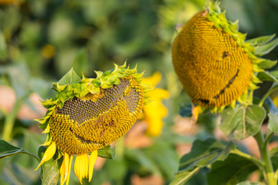
<svg viewBox="0 0 278 185">
<path fill-rule="evenodd" d="M 236 105 L 229 107 L 221 113 L 220 129 L 229 139 L 245 139 L 259 132 L 265 109 L 258 105 Z"/>
</svg>

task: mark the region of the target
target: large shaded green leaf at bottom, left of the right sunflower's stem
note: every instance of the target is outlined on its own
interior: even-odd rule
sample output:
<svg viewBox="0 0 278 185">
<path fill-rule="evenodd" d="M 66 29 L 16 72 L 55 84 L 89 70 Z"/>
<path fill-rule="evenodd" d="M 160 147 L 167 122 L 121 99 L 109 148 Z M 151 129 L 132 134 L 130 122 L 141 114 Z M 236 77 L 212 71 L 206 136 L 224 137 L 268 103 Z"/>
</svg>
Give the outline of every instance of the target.
<svg viewBox="0 0 278 185">
<path fill-rule="evenodd" d="M 224 160 L 236 146 L 230 142 L 227 146 L 215 139 L 195 140 L 191 151 L 183 155 L 171 184 L 184 184 L 199 168 L 213 164 L 218 160 Z"/>
</svg>

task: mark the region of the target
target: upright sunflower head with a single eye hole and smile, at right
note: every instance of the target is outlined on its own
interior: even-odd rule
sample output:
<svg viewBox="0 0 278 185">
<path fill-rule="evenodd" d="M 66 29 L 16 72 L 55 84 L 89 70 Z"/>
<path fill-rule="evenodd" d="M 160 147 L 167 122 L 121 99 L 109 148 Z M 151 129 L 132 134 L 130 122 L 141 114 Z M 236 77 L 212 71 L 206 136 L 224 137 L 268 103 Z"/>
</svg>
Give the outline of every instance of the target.
<svg viewBox="0 0 278 185">
<path fill-rule="evenodd" d="M 194 103 L 210 107 L 214 112 L 234 107 L 236 101 L 252 104 L 252 94 L 261 82 L 256 73 L 263 72 L 256 43 L 245 41 L 238 32 L 238 22 L 227 21 L 219 3 L 194 15 L 174 39 L 174 70 Z M 272 37 L 273 38 L 273 37 Z M 271 38 L 271 39 L 272 39 Z M 196 114 L 196 113 L 195 113 Z M 198 113 L 199 114 L 199 113 Z"/>
</svg>

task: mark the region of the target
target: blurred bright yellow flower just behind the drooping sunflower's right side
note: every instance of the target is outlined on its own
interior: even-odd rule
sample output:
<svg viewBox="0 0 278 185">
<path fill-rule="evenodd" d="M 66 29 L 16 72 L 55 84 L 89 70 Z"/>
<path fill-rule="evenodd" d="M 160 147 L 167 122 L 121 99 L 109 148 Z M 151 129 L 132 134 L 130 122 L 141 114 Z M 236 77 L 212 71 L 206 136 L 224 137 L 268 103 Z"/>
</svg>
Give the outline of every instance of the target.
<svg viewBox="0 0 278 185">
<path fill-rule="evenodd" d="M 156 72 L 148 78 L 143 78 L 142 83 L 147 85 L 157 85 L 161 81 L 161 73 Z M 162 100 L 170 96 L 165 89 L 154 88 L 146 93 L 152 100 L 144 105 L 144 119 L 147 122 L 147 134 L 150 136 L 158 136 L 161 134 L 163 127 L 162 119 L 167 116 L 167 108 L 162 104 Z"/>
</svg>

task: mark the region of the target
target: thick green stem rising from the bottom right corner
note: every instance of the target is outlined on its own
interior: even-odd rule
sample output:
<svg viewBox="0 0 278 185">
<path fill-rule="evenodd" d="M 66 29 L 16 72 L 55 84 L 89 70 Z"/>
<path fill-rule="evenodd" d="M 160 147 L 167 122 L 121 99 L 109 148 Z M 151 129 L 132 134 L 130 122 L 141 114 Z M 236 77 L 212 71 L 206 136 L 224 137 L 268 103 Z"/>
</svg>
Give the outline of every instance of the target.
<svg viewBox="0 0 278 185">
<path fill-rule="evenodd" d="M 256 133 L 254 136 L 256 142 L 258 143 L 260 154 L 261 154 L 261 161 L 263 161 L 263 171 L 265 173 L 265 180 L 268 185 L 277 185 L 277 179 L 275 178 L 275 174 L 272 168 L 272 163 L 270 160 L 270 155 L 268 152 L 268 140 L 265 141 L 263 138 L 263 133 L 261 130 Z"/>
</svg>

